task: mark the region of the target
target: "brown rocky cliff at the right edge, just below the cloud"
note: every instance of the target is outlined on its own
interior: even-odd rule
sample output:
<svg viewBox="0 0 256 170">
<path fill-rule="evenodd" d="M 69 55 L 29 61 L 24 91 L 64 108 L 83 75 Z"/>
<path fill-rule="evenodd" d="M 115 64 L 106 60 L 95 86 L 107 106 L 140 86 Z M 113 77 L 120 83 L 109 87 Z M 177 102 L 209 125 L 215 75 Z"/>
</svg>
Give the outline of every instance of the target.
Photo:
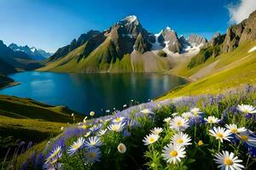
<svg viewBox="0 0 256 170">
<path fill-rule="evenodd" d="M 256 11 L 236 26 L 230 26 L 224 39 L 223 52 L 229 53 L 243 42 L 256 40 Z"/>
</svg>

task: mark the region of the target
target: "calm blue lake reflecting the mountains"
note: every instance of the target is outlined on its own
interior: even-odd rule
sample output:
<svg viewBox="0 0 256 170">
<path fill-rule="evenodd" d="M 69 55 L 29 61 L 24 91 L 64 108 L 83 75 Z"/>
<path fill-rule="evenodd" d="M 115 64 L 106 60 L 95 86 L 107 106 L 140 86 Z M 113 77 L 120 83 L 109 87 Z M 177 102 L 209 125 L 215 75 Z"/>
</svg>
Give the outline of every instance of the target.
<svg viewBox="0 0 256 170">
<path fill-rule="evenodd" d="M 28 71 L 9 75 L 20 85 L 0 90 L 0 94 L 35 99 L 49 105 L 66 105 L 88 114 L 120 109 L 131 99 L 146 102 L 186 83 L 181 77 L 157 73 L 67 74 Z"/>
</svg>

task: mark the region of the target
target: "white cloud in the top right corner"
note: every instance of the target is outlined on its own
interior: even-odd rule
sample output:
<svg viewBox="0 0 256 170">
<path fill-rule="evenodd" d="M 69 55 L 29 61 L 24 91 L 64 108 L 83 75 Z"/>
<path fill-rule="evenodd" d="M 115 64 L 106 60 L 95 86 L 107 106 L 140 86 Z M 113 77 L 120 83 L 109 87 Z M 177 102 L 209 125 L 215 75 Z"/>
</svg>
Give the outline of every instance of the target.
<svg viewBox="0 0 256 170">
<path fill-rule="evenodd" d="M 230 23 L 238 24 L 256 10 L 256 0 L 239 0 L 236 4 L 230 3 L 228 9 L 230 11 Z"/>
</svg>

